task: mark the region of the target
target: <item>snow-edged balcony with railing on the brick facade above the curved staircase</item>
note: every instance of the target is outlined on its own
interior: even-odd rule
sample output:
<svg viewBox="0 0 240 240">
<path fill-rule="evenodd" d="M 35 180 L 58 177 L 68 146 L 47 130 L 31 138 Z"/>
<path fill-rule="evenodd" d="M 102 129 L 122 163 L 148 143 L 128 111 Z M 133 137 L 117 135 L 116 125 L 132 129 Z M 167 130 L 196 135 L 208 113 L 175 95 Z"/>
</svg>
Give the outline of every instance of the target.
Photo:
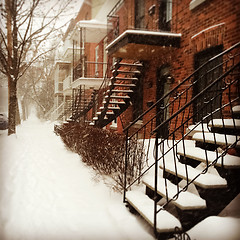
<svg viewBox="0 0 240 240">
<path fill-rule="evenodd" d="M 173 25 L 176 3 L 171 0 L 120 0 L 108 14 L 108 54 L 112 57 L 136 60 L 161 59 L 180 47 L 181 34 Z M 126 18 L 128 21 L 126 21 Z M 174 19 L 174 21 L 173 21 Z"/>
</svg>

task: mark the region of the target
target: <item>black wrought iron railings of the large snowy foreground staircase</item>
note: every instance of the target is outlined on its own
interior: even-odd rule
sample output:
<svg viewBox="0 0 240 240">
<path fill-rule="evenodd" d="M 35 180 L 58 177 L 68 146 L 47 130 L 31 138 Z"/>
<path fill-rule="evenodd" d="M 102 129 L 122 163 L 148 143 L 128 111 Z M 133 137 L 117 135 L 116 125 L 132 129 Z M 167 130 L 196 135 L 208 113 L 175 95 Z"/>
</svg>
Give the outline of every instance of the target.
<svg viewBox="0 0 240 240">
<path fill-rule="evenodd" d="M 205 130 L 206 128 L 210 129 L 209 122 L 218 118 L 224 125 L 224 119 L 232 118 L 233 106 L 240 103 L 239 76 L 240 43 L 237 43 L 200 66 L 195 72 L 160 98 L 124 130 L 126 134 L 124 202 L 126 201 L 126 192 L 134 184 L 140 182 L 142 177 L 150 171 L 153 171 L 154 174 L 155 196 L 157 196 L 159 165 L 161 164 L 163 173 L 165 173 L 166 162 L 169 160 L 170 155 L 177 178 L 179 171 L 177 164 L 179 156 L 176 153 L 179 149 L 182 149 L 184 158 L 186 158 L 186 147 L 192 133 L 196 130 L 200 131 L 204 144 L 207 144 L 207 133 Z M 206 79 L 212 80 L 204 86 L 203 90 L 196 93 L 195 90 L 198 84 L 206 81 Z M 144 124 L 141 127 L 136 127 L 140 119 L 144 120 Z M 196 119 L 198 120 L 197 122 L 195 122 Z M 218 149 L 214 149 L 216 154 L 214 161 L 208 161 L 207 151 L 205 151 L 206 167 L 194 178 L 189 178 L 187 164 L 184 164 L 186 184 L 184 187 L 181 186 L 180 188 L 177 183 L 177 193 L 173 198 L 168 196 L 168 186 L 167 181 L 165 181 L 167 201 L 158 211 L 157 198 L 155 198 L 155 230 L 158 212 L 163 210 L 169 202 L 176 200 L 179 194 L 182 191 L 186 191 L 189 184 L 200 175 L 206 173 L 210 166 L 215 165 L 217 162 L 222 164 L 222 157 L 226 154 L 228 149 L 236 147 L 239 142 L 239 136 L 236 134 L 237 131 L 235 131 L 236 123 L 233 124 L 233 128 L 235 137 L 229 142 L 227 135 L 224 134 L 225 149 L 222 149 L 221 152 L 219 152 Z M 167 135 L 166 130 L 168 132 Z M 218 141 L 217 135 L 217 133 L 212 133 L 213 144 L 215 145 Z M 141 142 L 141 144 L 144 144 L 145 153 L 143 157 L 148 167 L 142 169 L 141 172 L 139 172 L 139 176 L 135 180 L 129 182 L 128 151 L 129 145 L 133 140 L 137 140 Z"/>
</svg>

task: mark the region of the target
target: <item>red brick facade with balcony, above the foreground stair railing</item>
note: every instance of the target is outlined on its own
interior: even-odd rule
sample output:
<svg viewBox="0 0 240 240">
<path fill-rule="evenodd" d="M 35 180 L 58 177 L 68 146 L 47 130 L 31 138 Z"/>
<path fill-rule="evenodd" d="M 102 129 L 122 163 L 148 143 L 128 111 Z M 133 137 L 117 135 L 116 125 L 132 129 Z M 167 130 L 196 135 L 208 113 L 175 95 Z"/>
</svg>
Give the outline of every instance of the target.
<svg viewBox="0 0 240 240">
<path fill-rule="evenodd" d="M 115 26 L 115 36 L 109 35 L 109 56 L 143 61 L 145 65 L 142 103 L 125 112 L 127 122 L 206 60 L 239 42 L 239 7 L 238 1 L 214 0 L 128 0 L 119 4 L 111 13 L 113 17 L 109 16 Z M 200 90 L 196 86 L 194 94 Z M 134 108 L 139 113 L 131 116 Z M 123 122 L 124 128 L 127 122 Z"/>
</svg>

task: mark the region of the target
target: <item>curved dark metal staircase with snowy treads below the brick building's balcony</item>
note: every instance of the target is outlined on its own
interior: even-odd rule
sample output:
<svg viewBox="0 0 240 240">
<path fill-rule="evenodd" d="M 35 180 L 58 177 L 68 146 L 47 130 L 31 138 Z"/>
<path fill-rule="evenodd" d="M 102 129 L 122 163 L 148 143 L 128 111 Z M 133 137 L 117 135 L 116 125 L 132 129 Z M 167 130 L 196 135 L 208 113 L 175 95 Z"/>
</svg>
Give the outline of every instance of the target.
<svg viewBox="0 0 240 240">
<path fill-rule="evenodd" d="M 102 100 L 93 118 L 93 125 L 102 128 L 128 108 L 138 87 L 142 67 L 141 63 L 127 63 L 121 59 L 113 64 L 110 82 L 99 96 Z"/>
</svg>

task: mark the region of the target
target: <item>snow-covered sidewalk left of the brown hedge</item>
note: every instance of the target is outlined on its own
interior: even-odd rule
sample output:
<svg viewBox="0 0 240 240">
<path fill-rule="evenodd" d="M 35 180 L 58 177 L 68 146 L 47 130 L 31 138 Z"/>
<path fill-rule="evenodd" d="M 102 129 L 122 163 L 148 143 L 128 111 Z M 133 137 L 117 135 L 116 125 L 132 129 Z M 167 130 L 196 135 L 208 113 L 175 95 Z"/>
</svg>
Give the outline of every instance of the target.
<svg viewBox="0 0 240 240">
<path fill-rule="evenodd" d="M 53 124 L 31 117 L 0 134 L 1 240 L 154 239 Z"/>
</svg>

